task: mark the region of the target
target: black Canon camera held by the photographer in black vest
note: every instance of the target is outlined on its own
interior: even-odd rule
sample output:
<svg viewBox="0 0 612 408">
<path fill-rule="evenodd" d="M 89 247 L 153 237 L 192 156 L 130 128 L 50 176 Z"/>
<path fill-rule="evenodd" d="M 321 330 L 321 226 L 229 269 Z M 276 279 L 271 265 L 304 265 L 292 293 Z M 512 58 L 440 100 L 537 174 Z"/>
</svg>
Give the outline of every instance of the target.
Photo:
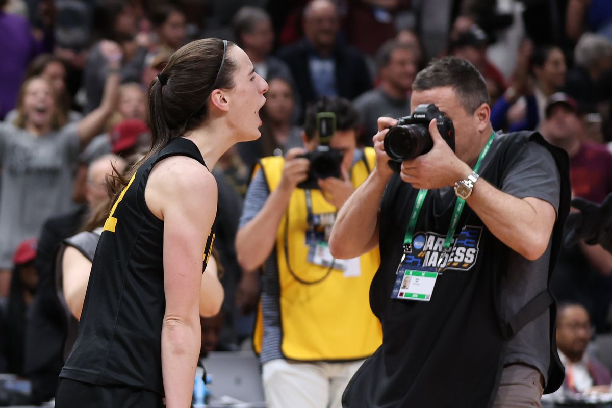
<svg viewBox="0 0 612 408">
<path fill-rule="evenodd" d="M 433 139 L 429 134 L 431 119 L 436 119 L 438 132 L 454 152 L 455 127 L 453 127 L 453 121 L 444 116 L 438 106 L 433 103 L 422 103 L 414 109 L 411 115 L 399 117 L 397 125 L 390 127 L 389 132 L 384 136 L 383 147 L 389 158 L 395 163 L 401 163 L 401 161 L 411 160 L 430 151 L 433 147 Z M 398 170 L 399 165 L 395 163 L 389 163 L 389 165 L 394 170 Z"/>
</svg>

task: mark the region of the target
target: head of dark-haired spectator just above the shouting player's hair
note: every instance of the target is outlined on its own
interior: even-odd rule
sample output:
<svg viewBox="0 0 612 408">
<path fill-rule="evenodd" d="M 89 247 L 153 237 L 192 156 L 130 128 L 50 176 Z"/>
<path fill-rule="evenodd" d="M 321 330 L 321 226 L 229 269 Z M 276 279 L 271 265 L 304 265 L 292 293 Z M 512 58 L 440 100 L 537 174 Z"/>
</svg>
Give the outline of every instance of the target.
<svg viewBox="0 0 612 408">
<path fill-rule="evenodd" d="M 156 53 L 173 53 L 185 44 L 185 14 L 170 4 L 156 7 L 149 17 L 157 34 Z"/>
</svg>

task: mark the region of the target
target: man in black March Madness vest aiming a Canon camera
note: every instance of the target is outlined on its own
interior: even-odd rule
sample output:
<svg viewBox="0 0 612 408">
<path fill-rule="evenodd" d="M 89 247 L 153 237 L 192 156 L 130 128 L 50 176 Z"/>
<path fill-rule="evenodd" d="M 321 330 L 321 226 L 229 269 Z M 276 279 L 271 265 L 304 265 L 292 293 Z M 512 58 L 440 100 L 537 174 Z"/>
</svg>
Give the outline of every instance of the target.
<svg viewBox="0 0 612 408">
<path fill-rule="evenodd" d="M 485 81 L 463 59 L 432 62 L 412 90 L 403 127 L 379 119 L 376 168 L 329 241 L 337 258 L 381 251 L 370 301 L 384 343 L 343 406 L 540 406 L 563 378 L 548 281 L 569 210 L 567 155 L 538 133 L 493 133 Z M 431 149 L 399 157 L 394 174 L 392 134 Z"/>
</svg>

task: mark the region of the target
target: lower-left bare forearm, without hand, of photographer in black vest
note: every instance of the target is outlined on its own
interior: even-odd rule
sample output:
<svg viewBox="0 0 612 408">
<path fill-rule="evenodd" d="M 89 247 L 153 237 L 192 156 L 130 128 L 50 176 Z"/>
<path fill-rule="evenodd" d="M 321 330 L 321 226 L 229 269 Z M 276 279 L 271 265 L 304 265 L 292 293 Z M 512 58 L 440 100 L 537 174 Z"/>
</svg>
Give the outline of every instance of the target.
<svg viewBox="0 0 612 408">
<path fill-rule="evenodd" d="M 355 258 L 378 245 L 378 211 L 386 185 L 375 168 L 341 207 L 329 238 L 335 258 Z"/>
</svg>

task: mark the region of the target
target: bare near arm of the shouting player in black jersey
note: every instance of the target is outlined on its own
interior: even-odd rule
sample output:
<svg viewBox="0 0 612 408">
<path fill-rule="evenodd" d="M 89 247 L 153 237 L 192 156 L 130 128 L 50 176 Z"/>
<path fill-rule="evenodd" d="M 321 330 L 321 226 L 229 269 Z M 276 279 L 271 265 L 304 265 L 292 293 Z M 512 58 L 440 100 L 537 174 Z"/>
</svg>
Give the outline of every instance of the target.
<svg viewBox="0 0 612 408">
<path fill-rule="evenodd" d="M 211 313 L 218 311 L 222 299 L 216 276 L 206 273 L 203 278 L 202 273 L 203 251 L 217 212 L 217 184 L 200 163 L 173 157 L 154 169 L 145 198 L 164 221 L 162 374 L 166 407 L 185 408 L 192 400 L 200 355 L 201 281 L 210 284 L 208 292 L 214 295 L 209 299 Z"/>
</svg>

